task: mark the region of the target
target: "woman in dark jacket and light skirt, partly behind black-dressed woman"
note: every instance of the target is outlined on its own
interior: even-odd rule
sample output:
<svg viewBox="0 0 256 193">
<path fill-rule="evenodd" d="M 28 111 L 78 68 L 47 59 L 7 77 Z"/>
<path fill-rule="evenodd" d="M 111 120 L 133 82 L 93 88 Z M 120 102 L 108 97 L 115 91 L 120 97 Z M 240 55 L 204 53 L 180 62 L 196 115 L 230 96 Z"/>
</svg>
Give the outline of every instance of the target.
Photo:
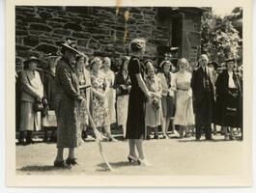
<svg viewBox="0 0 256 193">
<path fill-rule="evenodd" d="M 115 83 L 113 86 L 113 88 L 116 89 L 117 96 L 117 123 L 119 126 L 122 126 L 124 138 L 127 133 L 128 94 L 131 88 L 128 76 L 128 61 L 128 56 L 125 56 L 122 59 L 122 64 L 119 72 L 115 76 Z"/>
</svg>

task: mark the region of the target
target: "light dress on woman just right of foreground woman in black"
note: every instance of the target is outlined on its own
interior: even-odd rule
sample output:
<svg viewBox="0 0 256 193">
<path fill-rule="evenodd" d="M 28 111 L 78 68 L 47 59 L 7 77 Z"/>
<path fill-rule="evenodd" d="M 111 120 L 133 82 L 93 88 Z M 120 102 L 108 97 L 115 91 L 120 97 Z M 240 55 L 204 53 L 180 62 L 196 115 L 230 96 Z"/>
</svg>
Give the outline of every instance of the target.
<svg viewBox="0 0 256 193">
<path fill-rule="evenodd" d="M 155 75 L 154 79 L 151 79 L 149 76 L 145 78 L 145 84 L 150 92 L 154 92 L 161 95 L 161 82 L 159 78 Z M 156 109 L 153 105 L 153 97 L 149 99 L 146 103 L 146 115 L 145 115 L 145 124 L 146 126 L 156 127 L 157 125 L 162 124 L 162 108 L 161 108 L 161 99 L 157 97 L 158 108 Z"/>
</svg>

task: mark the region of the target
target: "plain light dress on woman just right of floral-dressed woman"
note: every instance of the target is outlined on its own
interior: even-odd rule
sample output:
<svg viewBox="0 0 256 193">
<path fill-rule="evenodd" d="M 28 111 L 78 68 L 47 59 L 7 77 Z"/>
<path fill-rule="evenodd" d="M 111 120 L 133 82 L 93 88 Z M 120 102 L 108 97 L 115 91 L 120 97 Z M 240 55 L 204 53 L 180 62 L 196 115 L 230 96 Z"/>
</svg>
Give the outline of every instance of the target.
<svg viewBox="0 0 256 193">
<path fill-rule="evenodd" d="M 106 80 L 108 82 L 109 90 L 106 94 L 107 96 L 107 104 L 108 104 L 108 115 L 110 124 L 116 123 L 116 90 L 113 88 L 115 82 L 115 73 L 109 69 L 108 71 L 100 70 L 105 74 Z"/>
</svg>

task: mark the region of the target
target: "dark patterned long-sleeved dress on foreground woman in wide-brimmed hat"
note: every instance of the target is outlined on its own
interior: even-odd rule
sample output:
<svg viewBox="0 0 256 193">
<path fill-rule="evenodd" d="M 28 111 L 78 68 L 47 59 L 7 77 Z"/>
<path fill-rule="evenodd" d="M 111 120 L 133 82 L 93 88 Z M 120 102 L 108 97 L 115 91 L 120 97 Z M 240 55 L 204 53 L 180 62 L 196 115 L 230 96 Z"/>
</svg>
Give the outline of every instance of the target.
<svg viewBox="0 0 256 193">
<path fill-rule="evenodd" d="M 57 148 L 76 148 L 82 142 L 79 79 L 76 70 L 65 58 L 58 62 L 55 80 Z"/>
</svg>

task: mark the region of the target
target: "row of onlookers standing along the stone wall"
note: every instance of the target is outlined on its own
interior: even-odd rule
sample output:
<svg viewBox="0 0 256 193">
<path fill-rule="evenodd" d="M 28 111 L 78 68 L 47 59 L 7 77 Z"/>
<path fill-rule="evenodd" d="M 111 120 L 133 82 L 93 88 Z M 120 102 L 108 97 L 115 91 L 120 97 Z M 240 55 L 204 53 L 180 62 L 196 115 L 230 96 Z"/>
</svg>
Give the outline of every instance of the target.
<svg viewBox="0 0 256 193">
<path fill-rule="evenodd" d="M 73 82 L 76 78 L 79 82 L 77 89 L 86 99 L 98 130 L 109 141 L 116 141 L 111 128 L 118 125 L 116 129 L 122 130 L 125 138 L 131 89 L 129 60 L 129 56 L 123 57 L 119 70 L 114 72 L 109 57 L 89 59 L 85 54 L 79 54 L 72 64 L 73 73 L 62 73 L 66 69 L 59 69 L 57 79 L 57 66 L 62 65 L 60 56 L 47 55 L 44 69 L 38 68 L 42 61 L 36 57 L 24 61 L 23 69 L 16 72 L 16 107 L 20 104 L 16 114 L 19 116 L 19 122 L 16 122 L 18 143 L 33 143 L 33 131 L 40 130 L 44 131 L 43 142 L 56 141 L 56 117 L 62 115 L 56 115 L 55 109 L 72 111 L 72 106 L 78 105 L 69 98 L 78 97 L 69 82 L 62 92 L 68 91 L 70 96 L 60 99 L 56 93 L 60 93 L 58 89 L 63 81 Z M 234 128 L 242 131 L 242 72 L 235 59 L 228 58 L 222 69 L 209 62 L 207 55 L 201 55 L 198 63 L 185 58 L 179 59 L 176 65 L 171 60 L 163 60 L 158 65 L 152 60 L 141 62 L 145 68 L 145 85 L 152 94 L 145 105 L 146 139 L 167 139 L 176 134 L 180 138 L 195 135 L 198 141 L 204 132 L 206 139 L 212 140 L 216 125 L 220 125 L 224 138 L 234 140 Z M 83 139 L 94 136 L 89 132 L 91 125 L 85 108 L 80 105 L 77 112 L 63 115 L 68 121 L 74 119 L 75 114 L 80 115 Z M 67 126 L 72 125 L 68 123 Z"/>
</svg>

